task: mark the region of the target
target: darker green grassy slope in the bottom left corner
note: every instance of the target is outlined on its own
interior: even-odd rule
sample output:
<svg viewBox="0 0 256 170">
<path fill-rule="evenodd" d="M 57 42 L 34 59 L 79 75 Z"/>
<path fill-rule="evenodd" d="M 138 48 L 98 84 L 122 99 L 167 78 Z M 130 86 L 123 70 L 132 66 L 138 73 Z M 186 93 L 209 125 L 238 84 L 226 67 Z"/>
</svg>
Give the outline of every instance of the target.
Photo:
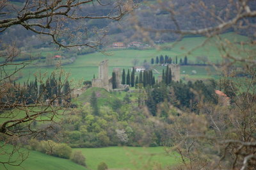
<svg viewBox="0 0 256 170">
<path fill-rule="evenodd" d="M 12 150 L 12 146 L 4 146 L 8 151 Z M 24 153 L 28 153 L 28 150 L 21 149 L 20 151 L 23 151 Z M 14 155 L 14 158 L 17 157 L 17 155 Z M 0 160 L 6 161 L 7 157 L 6 155 L 0 154 Z M 83 166 L 79 166 L 78 164 L 75 164 L 71 160 L 65 159 L 65 158 L 58 158 L 58 157 L 52 157 L 49 155 L 46 155 L 44 153 L 40 153 L 38 151 L 29 151 L 29 157 L 22 162 L 21 166 L 6 166 L 9 170 L 16 170 L 16 169 L 26 169 L 26 170 L 72 170 L 72 169 L 86 169 Z M 4 169 L 3 164 L 0 164 L 0 169 Z"/>
</svg>

